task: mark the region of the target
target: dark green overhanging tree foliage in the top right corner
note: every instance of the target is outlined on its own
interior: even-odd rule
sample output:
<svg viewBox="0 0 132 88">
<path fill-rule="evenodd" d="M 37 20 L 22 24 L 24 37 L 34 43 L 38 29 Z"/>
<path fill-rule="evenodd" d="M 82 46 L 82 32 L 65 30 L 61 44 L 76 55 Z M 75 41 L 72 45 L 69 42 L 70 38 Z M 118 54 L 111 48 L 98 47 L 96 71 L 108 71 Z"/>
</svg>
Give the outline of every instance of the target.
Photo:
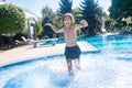
<svg viewBox="0 0 132 88">
<path fill-rule="evenodd" d="M 132 16 L 132 0 L 112 0 L 109 12 L 110 18 L 117 21 Z"/>
</svg>

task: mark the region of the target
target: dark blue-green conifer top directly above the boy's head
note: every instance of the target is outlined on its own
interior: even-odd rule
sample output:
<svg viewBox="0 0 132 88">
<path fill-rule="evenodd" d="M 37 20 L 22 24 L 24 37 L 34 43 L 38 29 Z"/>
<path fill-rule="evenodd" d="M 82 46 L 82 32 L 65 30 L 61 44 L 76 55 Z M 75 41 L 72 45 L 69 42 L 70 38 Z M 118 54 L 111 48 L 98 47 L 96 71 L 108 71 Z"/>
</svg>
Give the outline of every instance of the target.
<svg viewBox="0 0 132 88">
<path fill-rule="evenodd" d="M 73 0 L 61 0 L 58 14 L 70 13 L 73 7 Z"/>
</svg>

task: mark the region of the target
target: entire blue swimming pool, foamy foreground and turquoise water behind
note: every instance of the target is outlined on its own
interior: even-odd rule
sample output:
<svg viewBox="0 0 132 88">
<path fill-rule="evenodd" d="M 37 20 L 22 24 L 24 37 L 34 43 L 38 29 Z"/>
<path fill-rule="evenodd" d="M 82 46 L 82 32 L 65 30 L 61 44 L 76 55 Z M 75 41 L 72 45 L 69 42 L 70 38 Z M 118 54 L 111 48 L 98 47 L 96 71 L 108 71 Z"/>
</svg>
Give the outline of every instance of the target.
<svg viewBox="0 0 132 88">
<path fill-rule="evenodd" d="M 132 36 L 81 37 L 100 53 L 81 55 L 81 70 L 67 75 L 64 55 L 37 57 L 0 68 L 2 88 L 132 88 Z M 58 43 L 62 43 L 59 41 Z"/>
</svg>

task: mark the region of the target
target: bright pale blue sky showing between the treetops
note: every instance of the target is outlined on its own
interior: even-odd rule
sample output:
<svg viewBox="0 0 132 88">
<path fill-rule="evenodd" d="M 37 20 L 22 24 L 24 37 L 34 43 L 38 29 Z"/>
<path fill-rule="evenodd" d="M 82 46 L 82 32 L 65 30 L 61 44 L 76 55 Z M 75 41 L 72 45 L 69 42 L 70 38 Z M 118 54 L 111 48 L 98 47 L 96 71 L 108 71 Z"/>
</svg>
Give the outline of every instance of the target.
<svg viewBox="0 0 132 88">
<path fill-rule="evenodd" d="M 79 7 L 82 0 L 73 0 L 73 8 Z M 48 6 L 56 11 L 59 8 L 61 0 L 7 0 L 9 3 L 16 4 L 21 8 L 28 9 L 35 13 L 38 16 L 42 16 L 41 10 L 43 7 Z M 111 0 L 98 0 L 99 6 L 103 8 L 103 10 L 109 14 L 108 8 L 111 4 Z"/>
</svg>

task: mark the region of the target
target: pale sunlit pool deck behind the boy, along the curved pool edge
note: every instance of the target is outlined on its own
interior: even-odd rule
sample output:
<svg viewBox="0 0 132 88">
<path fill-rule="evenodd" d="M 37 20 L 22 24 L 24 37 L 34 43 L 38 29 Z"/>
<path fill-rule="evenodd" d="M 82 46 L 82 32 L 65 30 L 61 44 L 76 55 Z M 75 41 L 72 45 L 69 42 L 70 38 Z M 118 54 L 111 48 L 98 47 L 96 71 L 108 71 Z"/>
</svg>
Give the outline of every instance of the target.
<svg viewBox="0 0 132 88">
<path fill-rule="evenodd" d="M 94 45 L 88 42 L 78 42 L 81 52 L 98 52 Z M 0 53 L 0 67 L 9 64 L 33 59 L 36 57 L 64 54 L 65 44 L 56 44 L 55 46 L 40 46 L 33 48 L 33 45 L 20 46 Z"/>
</svg>

